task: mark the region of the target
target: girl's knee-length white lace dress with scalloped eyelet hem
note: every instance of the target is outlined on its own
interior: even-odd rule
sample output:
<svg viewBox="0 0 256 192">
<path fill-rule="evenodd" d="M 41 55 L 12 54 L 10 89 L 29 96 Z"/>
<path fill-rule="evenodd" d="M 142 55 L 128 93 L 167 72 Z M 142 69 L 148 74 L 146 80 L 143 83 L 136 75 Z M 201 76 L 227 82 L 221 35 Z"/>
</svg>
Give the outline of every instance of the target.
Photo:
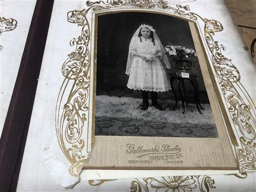
<svg viewBox="0 0 256 192">
<path fill-rule="evenodd" d="M 167 78 L 166 70 L 161 63 L 159 57 L 154 61 L 144 61 L 141 57 L 134 56 L 134 53 L 150 58 L 156 53 L 160 53 L 161 49 L 158 42 L 155 45 L 150 39 L 141 37 L 135 38 L 131 44 L 131 66 L 130 76 L 127 87 L 134 90 L 144 91 L 168 91 L 171 90 L 170 81 Z"/>
</svg>

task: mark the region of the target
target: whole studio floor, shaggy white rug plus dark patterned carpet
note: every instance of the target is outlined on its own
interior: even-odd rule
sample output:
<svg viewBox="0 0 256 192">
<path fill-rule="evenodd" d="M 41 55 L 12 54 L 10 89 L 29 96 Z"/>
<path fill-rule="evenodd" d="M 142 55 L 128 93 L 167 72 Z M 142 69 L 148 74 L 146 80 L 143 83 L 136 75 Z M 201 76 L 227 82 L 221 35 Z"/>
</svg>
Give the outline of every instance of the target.
<svg viewBox="0 0 256 192">
<path fill-rule="evenodd" d="M 203 114 L 199 114 L 194 104 L 181 114 L 180 103 L 173 111 L 171 100 L 161 103 L 166 111 L 153 107 L 143 111 L 139 108 L 141 99 L 129 97 L 100 95 L 96 103 L 96 135 L 218 137 L 208 104 L 203 104 Z"/>
</svg>

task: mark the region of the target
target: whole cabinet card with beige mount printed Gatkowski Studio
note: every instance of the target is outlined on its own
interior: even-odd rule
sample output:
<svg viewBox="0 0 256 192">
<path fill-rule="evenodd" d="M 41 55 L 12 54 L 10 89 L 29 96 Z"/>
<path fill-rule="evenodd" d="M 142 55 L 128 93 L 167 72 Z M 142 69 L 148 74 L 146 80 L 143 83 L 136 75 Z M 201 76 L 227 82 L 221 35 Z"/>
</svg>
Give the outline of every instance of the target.
<svg viewBox="0 0 256 192">
<path fill-rule="evenodd" d="M 95 147 L 84 169 L 237 170 L 196 23 L 134 10 L 92 21 Z"/>
</svg>

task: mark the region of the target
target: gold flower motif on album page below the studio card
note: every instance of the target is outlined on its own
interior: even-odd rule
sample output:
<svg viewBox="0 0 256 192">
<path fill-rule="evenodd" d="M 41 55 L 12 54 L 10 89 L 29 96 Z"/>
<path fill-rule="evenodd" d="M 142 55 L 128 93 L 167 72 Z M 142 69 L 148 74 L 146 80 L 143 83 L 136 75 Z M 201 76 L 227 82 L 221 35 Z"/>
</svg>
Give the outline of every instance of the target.
<svg viewBox="0 0 256 192">
<path fill-rule="evenodd" d="M 150 182 L 152 188 L 156 188 L 157 192 L 186 192 L 192 191 L 196 188 L 195 180 L 190 176 L 174 176 L 174 177 L 161 177 Z"/>
</svg>

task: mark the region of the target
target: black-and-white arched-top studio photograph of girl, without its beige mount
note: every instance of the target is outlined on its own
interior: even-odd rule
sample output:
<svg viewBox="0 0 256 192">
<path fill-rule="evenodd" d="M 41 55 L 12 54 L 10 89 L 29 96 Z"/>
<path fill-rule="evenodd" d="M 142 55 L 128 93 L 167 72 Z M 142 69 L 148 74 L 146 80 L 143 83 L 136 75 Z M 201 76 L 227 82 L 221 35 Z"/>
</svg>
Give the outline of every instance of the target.
<svg viewBox="0 0 256 192">
<path fill-rule="evenodd" d="M 189 22 L 98 16 L 95 135 L 218 137 Z"/>
</svg>

